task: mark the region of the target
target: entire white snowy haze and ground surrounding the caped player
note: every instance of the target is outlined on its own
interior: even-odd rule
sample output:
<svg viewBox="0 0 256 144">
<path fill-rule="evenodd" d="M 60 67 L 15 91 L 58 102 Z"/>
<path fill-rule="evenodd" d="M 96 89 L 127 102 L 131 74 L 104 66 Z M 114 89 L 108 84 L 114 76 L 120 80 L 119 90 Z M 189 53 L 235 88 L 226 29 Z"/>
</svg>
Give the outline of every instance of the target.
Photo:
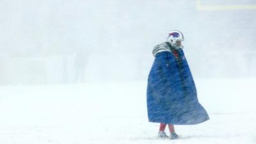
<svg viewBox="0 0 256 144">
<path fill-rule="evenodd" d="M 255 144 L 255 0 L 1 0 L 0 144 Z M 157 139 L 152 49 L 184 33 L 210 120 Z"/>
</svg>

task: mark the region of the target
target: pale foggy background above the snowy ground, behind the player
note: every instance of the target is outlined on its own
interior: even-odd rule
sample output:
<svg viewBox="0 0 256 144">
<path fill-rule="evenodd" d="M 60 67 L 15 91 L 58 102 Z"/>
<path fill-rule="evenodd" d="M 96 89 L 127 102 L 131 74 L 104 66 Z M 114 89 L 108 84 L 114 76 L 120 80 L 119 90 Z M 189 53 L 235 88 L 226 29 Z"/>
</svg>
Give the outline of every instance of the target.
<svg viewBox="0 0 256 144">
<path fill-rule="evenodd" d="M 196 78 L 256 77 L 256 1 L 0 1 L 0 84 L 147 81 L 184 33 Z"/>
</svg>

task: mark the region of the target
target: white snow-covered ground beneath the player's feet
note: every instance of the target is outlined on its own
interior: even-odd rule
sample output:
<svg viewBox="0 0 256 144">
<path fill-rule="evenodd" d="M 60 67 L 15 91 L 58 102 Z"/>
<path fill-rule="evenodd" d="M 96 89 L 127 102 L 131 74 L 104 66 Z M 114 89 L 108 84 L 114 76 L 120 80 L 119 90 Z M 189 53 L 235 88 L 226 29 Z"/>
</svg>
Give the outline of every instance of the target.
<svg viewBox="0 0 256 144">
<path fill-rule="evenodd" d="M 211 120 L 175 125 L 157 139 L 147 120 L 147 82 L 0 87 L 0 144 L 256 143 L 252 79 L 195 79 Z"/>
</svg>

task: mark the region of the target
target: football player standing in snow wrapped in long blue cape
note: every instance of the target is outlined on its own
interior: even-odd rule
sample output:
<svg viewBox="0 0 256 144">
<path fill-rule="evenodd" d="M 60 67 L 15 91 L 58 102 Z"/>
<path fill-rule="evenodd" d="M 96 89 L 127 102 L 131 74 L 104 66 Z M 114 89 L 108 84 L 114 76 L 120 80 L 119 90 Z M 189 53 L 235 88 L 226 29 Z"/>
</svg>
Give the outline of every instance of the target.
<svg viewBox="0 0 256 144">
<path fill-rule="evenodd" d="M 184 36 L 180 31 L 170 31 L 166 42 L 153 50 L 154 63 L 148 76 L 147 110 L 149 122 L 160 123 L 159 138 L 177 139 L 173 125 L 193 125 L 209 120 L 198 102 L 196 87 L 188 62 L 182 51 Z"/>
</svg>

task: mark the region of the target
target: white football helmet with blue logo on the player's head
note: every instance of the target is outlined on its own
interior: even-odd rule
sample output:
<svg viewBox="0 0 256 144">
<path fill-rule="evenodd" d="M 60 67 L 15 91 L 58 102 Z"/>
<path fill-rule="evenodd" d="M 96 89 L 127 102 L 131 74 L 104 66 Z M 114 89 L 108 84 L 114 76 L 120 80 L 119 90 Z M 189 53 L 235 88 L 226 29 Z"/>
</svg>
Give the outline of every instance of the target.
<svg viewBox="0 0 256 144">
<path fill-rule="evenodd" d="M 169 36 L 166 40 L 166 42 L 169 42 L 176 49 L 183 49 L 183 45 L 181 45 L 182 41 L 184 41 L 184 36 L 180 31 L 177 30 L 170 31 Z"/>
</svg>

